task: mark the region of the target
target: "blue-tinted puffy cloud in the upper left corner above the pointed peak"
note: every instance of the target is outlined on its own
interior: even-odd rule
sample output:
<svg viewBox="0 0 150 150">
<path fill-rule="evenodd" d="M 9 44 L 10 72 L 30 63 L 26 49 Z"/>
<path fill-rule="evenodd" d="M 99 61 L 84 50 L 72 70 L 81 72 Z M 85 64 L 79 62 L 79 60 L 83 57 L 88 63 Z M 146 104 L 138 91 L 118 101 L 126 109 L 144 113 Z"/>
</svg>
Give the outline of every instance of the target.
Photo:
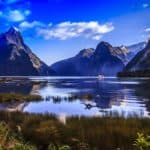
<svg viewBox="0 0 150 150">
<path fill-rule="evenodd" d="M 30 10 L 7 9 L 0 13 L 0 17 L 10 22 L 19 22 L 25 20 L 30 13 Z"/>
</svg>

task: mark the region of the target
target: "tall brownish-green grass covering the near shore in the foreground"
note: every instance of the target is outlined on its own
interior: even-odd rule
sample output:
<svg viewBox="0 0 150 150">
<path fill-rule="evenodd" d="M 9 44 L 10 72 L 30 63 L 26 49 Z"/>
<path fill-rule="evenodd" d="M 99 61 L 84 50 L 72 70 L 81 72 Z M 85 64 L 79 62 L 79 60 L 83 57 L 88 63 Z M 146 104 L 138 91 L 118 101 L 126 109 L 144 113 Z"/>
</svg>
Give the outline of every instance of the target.
<svg viewBox="0 0 150 150">
<path fill-rule="evenodd" d="M 19 143 L 22 146 L 20 149 L 23 150 L 115 150 L 117 148 L 149 150 L 150 148 L 149 138 L 144 137 L 150 135 L 148 118 L 70 117 L 60 122 L 54 115 L 0 112 L 0 122 L 4 124 L 0 126 L 2 139 L 0 145 L 2 149 L 7 150 L 16 150 L 16 143 Z M 6 131 L 4 133 L 1 132 L 3 128 Z M 138 135 L 137 138 L 138 132 L 143 135 Z"/>
</svg>

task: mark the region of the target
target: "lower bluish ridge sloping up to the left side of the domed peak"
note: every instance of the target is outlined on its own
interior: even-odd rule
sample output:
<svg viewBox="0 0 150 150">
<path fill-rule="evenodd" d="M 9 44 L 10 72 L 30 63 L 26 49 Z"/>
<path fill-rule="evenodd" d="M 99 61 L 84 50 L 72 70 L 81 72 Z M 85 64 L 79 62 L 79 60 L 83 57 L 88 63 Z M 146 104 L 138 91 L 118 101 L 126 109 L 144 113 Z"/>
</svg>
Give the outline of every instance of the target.
<svg viewBox="0 0 150 150">
<path fill-rule="evenodd" d="M 60 76 L 89 75 L 89 63 L 94 49 L 83 49 L 75 57 L 54 63 L 51 68 Z"/>
</svg>

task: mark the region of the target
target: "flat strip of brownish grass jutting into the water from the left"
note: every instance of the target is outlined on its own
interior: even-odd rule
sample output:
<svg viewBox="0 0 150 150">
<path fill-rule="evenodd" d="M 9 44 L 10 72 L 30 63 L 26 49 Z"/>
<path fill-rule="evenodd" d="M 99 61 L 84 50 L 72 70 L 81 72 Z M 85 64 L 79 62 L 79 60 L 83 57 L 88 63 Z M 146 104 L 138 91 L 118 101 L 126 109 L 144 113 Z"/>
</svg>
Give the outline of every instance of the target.
<svg viewBox="0 0 150 150">
<path fill-rule="evenodd" d="M 24 102 L 24 101 L 40 101 L 43 98 L 40 95 L 23 95 L 17 93 L 1 93 L 0 102 Z"/>
</svg>

